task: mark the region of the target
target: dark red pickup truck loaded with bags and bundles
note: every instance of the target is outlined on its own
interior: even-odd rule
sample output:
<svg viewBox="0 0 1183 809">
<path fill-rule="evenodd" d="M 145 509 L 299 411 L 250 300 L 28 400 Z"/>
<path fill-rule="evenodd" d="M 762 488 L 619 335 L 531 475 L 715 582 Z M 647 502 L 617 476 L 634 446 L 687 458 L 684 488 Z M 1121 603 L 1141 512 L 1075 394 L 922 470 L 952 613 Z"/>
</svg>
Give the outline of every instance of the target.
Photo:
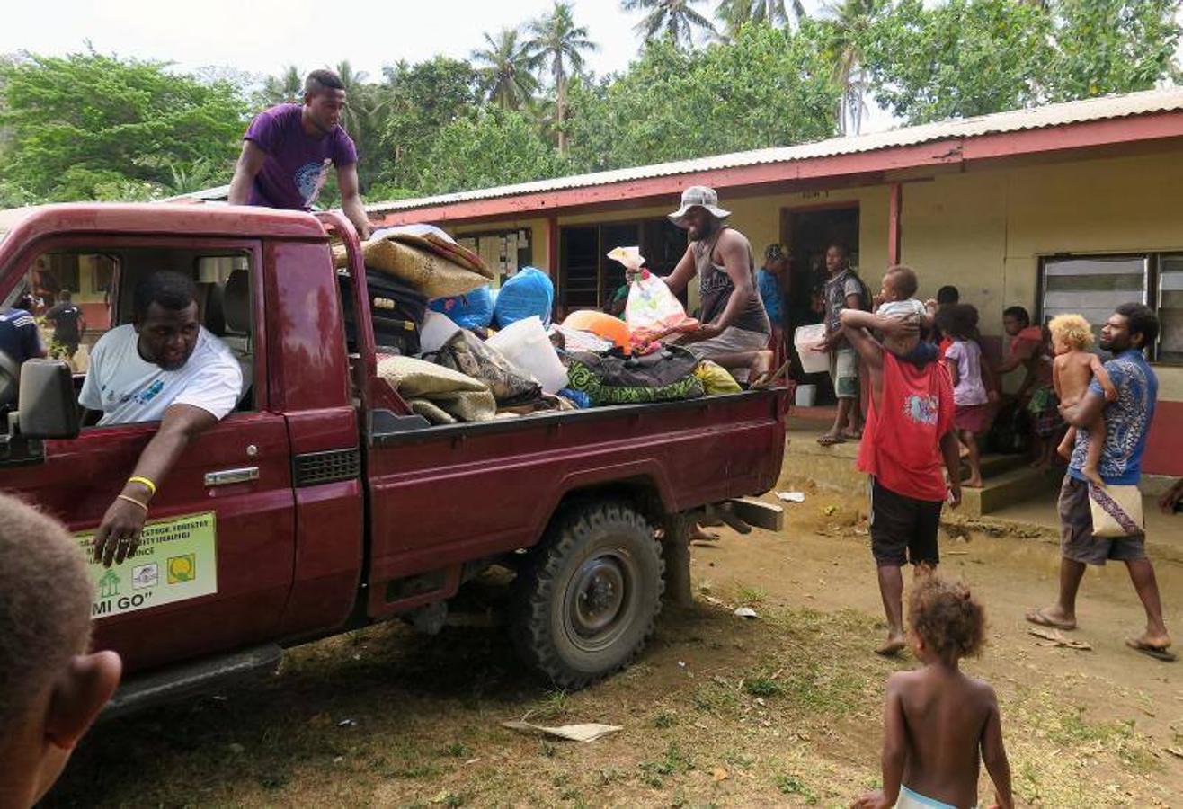
<svg viewBox="0 0 1183 809">
<path fill-rule="evenodd" d="M 332 235 L 348 271 L 334 268 Z M 115 326 L 130 321 L 135 284 L 166 268 L 196 281 L 202 322 L 246 390 L 162 483 L 135 557 L 93 567 L 96 645 L 125 664 L 117 706 L 273 667 L 285 646 L 393 616 L 438 630 L 490 565 L 516 574 L 524 658 L 580 687 L 642 647 L 664 576 L 689 581 L 662 561 L 665 544 L 687 564 L 678 526 L 769 490 L 781 468 L 784 390 L 428 425 L 375 373 L 366 272 L 340 215 L 0 212 L 6 306 L 49 270 Z M 79 428 L 84 354 L 73 368 L 26 362 L 0 436 L 0 488 L 63 519 L 83 548 L 156 427 Z"/>
</svg>

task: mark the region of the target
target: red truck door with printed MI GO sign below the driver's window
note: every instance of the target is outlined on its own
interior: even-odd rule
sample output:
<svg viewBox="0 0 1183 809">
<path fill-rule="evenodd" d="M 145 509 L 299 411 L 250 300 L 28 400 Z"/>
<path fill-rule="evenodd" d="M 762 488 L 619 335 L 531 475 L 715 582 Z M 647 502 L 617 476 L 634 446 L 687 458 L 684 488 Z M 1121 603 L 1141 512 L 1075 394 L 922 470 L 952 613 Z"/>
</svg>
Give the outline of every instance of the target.
<svg viewBox="0 0 1183 809">
<path fill-rule="evenodd" d="M 141 551 L 111 569 L 92 565 L 96 645 L 119 652 L 129 671 L 272 640 L 291 590 L 291 452 L 283 415 L 267 409 L 261 254 L 259 242 L 247 240 L 90 235 L 32 245 L 9 265 L 21 280 L 32 280 L 34 270 L 41 281 L 56 273 L 54 283 L 75 287 L 84 311 L 95 312 L 67 357 L 76 386 L 88 348 L 108 326 L 130 322 L 135 284 L 162 268 L 195 280 L 205 328 L 243 367 L 235 412 L 199 436 L 160 481 Z M 6 273 L 5 289 L 9 283 Z M 7 305 L 22 296 L 21 286 L 8 289 Z M 49 343 L 49 331 L 44 336 Z M 84 427 L 76 439 L 9 454 L 0 460 L 0 487 L 63 519 L 82 544 L 157 426 Z"/>
</svg>

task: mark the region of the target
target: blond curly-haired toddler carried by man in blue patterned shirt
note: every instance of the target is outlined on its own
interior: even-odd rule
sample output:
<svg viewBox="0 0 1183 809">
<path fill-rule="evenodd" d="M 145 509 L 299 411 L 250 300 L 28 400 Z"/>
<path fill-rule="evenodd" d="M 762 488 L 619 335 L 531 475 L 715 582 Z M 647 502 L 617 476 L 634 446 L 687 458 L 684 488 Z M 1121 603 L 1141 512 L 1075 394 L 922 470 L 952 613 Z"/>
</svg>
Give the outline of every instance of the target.
<svg viewBox="0 0 1183 809">
<path fill-rule="evenodd" d="M 1088 383 L 1093 377 L 1105 390 L 1105 401 L 1112 402 L 1117 399 L 1117 388 L 1110 380 L 1108 373 L 1100 357 L 1090 351 L 1093 347 L 1093 328 L 1080 315 L 1060 315 L 1053 317 L 1048 324 L 1052 332 L 1052 349 L 1055 351 L 1055 362 L 1052 365 L 1052 384 L 1055 386 L 1055 395 L 1062 405 L 1075 405 L 1088 390 Z M 1088 455 L 1080 468 L 1090 483 L 1105 487 L 1101 480 L 1100 470 L 1101 447 L 1105 446 L 1105 416 L 1098 414 L 1093 423 L 1088 425 Z M 1077 446 L 1077 428 L 1069 427 L 1064 440 L 1060 441 L 1058 452 L 1065 458 L 1072 457 L 1072 448 Z"/>
</svg>

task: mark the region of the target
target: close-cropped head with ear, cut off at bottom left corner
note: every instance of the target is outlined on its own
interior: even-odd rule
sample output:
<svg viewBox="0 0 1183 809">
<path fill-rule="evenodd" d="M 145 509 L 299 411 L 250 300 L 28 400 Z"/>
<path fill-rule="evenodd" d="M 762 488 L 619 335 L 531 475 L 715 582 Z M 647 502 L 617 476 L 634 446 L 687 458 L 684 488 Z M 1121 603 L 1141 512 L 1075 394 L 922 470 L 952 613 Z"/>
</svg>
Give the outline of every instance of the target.
<svg viewBox="0 0 1183 809">
<path fill-rule="evenodd" d="M 119 682 L 119 656 L 88 654 L 92 587 L 77 541 L 0 494 L 0 807 L 49 791 Z"/>
</svg>

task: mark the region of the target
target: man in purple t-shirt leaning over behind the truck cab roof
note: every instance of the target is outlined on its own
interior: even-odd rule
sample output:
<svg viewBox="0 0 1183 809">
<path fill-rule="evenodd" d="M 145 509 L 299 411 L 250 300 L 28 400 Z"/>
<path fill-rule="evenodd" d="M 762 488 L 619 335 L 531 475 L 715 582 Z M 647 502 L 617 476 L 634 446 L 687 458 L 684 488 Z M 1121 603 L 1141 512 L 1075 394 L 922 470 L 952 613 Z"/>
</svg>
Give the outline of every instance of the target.
<svg viewBox="0 0 1183 809">
<path fill-rule="evenodd" d="M 341 207 L 362 239 L 369 220 L 357 187 L 357 148 L 341 127 L 345 85 L 331 70 L 304 80 L 303 104 L 279 104 L 254 116 L 230 183 L 231 205 L 311 211 L 337 167 Z"/>
</svg>

